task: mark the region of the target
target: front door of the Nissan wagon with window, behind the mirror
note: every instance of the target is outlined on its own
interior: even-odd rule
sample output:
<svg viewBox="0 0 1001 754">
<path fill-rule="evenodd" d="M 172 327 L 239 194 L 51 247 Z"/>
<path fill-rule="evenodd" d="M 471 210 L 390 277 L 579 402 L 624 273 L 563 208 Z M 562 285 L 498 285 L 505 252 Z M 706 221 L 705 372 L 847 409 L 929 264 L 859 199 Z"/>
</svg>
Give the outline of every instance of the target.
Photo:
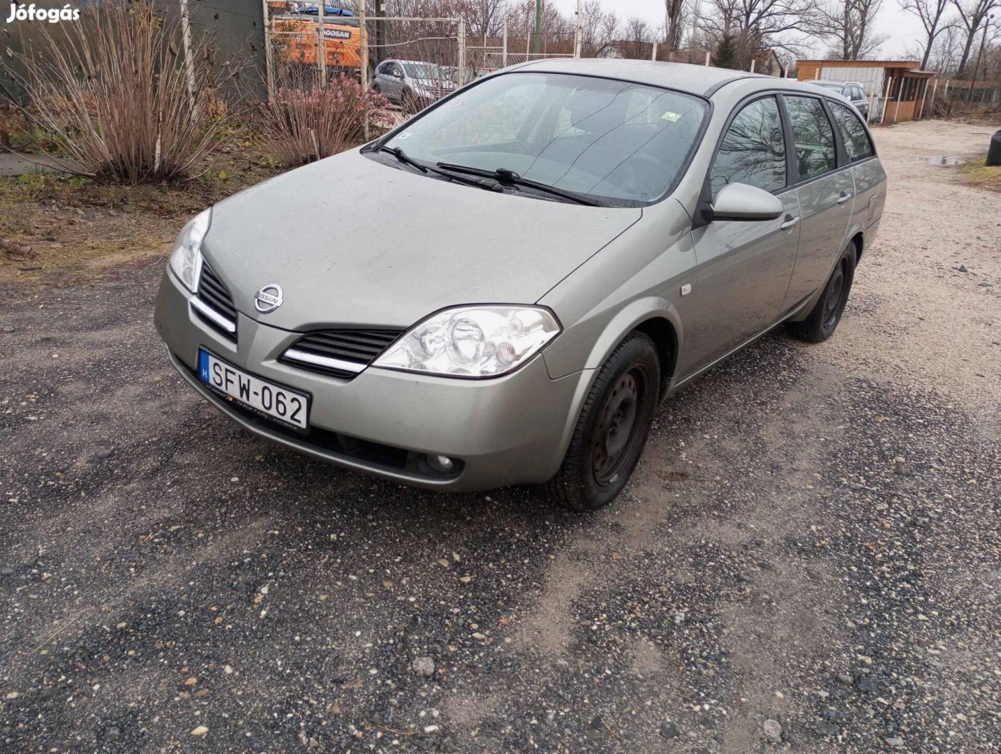
<svg viewBox="0 0 1001 754">
<path fill-rule="evenodd" d="M 714 220 L 697 228 L 698 316 L 689 330 L 693 369 L 711 363 L 769 327 L 779 316 L 799 237 L 799 202 L 789 186 L 789 150 L 778 99 L 742 104 L 710 168 L 713 198 L 728 183 L 771 191 L 785 206 L 774 220 Z"/>
</svg>

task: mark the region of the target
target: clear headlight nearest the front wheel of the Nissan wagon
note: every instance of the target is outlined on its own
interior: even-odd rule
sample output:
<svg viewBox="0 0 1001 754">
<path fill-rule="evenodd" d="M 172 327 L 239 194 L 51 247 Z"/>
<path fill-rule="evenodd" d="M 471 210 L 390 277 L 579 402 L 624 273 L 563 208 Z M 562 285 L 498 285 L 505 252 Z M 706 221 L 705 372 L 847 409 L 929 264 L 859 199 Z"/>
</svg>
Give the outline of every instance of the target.
<svg viewBox="0 0 1001 754">
<path fill-rule="evenodd" d="M 517 369 L 559 333 L 560 322 L 541 306 L 457 306 L 415 324 L 372 365 L 494 376 Z"/>
</svg>

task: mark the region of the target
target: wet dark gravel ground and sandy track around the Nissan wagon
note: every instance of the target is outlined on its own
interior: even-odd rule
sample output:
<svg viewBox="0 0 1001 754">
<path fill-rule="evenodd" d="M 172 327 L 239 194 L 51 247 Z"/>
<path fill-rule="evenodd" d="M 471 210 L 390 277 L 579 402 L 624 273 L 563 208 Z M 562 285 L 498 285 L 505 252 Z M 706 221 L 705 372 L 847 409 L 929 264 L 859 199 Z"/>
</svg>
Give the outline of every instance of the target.
<svg viewBox="0 0 1001 754">
<path fill-rule="evenodd" d="M 5 291 L 0 750 L 1001 751 L 1001 195 L 920 160 L 989 131 L 878 131 L 837 336 L 671 400 L 593 516 L 250 438 L 161 260 Z"/>
</svg>

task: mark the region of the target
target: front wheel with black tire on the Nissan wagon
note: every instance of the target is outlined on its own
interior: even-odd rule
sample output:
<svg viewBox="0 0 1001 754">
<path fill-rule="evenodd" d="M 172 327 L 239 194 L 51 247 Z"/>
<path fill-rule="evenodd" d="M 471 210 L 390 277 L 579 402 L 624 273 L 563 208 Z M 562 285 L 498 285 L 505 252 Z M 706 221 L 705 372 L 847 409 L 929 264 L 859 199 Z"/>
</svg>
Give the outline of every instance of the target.
<svg viewBox="0 0 1001 754">
<path fill-rule="evenodd" d="M 654 341 L 634 330 L 602 366 L 584 402 L 550 498 L 577 511 L 615 500 L 640 461 L 660 403 L 661 362 Z"/>
</svg>

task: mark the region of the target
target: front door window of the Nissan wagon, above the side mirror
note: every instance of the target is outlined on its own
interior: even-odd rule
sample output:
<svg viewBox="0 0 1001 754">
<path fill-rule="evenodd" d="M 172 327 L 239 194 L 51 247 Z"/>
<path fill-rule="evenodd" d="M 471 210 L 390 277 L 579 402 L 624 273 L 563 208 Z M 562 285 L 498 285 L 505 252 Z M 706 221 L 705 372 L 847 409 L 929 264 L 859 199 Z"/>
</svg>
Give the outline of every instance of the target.
<svg viewBox="0 0 1001 754">
<path fill-rule="evenodd" d="M 731 121 L 710 172 L 713 196 L 728 183 L 766 191 L 786 186 L 786 142 L 775 97 L 746 105 Z"/>
</svg>

